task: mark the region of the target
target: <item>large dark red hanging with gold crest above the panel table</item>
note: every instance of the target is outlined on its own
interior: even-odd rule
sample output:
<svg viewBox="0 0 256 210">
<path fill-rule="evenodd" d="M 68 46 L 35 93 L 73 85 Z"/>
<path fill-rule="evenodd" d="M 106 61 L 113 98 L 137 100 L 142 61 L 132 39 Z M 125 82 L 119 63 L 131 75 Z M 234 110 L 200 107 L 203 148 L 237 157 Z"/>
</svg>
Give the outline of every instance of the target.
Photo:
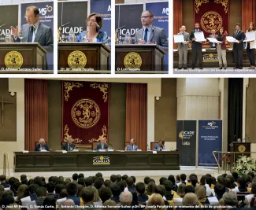
<svg viewBox="0 0 256 210">
<path fill-rule="evenodd" d="M 62 141 L 80 146 L 107 141 L 109 83 L 62 82 Z"/>
</svg>

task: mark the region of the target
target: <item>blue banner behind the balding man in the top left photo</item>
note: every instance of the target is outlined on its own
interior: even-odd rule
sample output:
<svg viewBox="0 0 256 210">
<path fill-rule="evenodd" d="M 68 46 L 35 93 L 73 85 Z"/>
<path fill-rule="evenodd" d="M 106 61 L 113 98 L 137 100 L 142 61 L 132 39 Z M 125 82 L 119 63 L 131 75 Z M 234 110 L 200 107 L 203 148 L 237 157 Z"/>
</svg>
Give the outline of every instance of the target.
<svg viewBox="0 0 256 210">
<path fill-rule="evenodd" d="M 35 2 L 21 4 L 20 20 L 21 25 L 28 24 L 24 15 L 28 6 L 36 6 L 39 9 L 39 21 L 46 26 L 49 26 L 54 35 L 54 2 Z M 46 54 L 48 70 L 54 70 L 54 53 Z M 45 69 L 43 69 L 45 70 Z"/>
</svg>

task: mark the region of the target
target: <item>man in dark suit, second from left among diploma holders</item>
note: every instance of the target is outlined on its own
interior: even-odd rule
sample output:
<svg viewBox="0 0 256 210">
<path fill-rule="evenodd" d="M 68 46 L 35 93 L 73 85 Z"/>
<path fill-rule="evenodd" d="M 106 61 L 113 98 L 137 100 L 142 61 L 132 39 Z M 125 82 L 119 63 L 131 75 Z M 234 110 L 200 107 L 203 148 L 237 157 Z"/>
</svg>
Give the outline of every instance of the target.
<svg viewBox="0 0 256 210">
<path fill-rule="evenodd" d="M 192 41 L 192 69 L 195 68 L 196 57 L 198 55 L 199 68 L 202 69 L 202 42 L 196 42 L 195 32 L 202 32 L 200 24 L 195 23 L 195 30 L 191 31 L 190 40 Z"/>
</svg>

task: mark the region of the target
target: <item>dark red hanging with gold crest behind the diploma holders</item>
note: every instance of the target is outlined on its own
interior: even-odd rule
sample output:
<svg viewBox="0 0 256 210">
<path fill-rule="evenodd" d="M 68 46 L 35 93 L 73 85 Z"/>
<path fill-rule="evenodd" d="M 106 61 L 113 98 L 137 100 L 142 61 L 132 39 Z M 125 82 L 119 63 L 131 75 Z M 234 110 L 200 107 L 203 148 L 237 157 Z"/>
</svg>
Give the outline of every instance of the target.
<svg viewBox="0 0 256 210">
<path fill-rule="evenodd" d="M 209 37 L 212 29 L 218 34 L 221 27 L 229 33 L 229 3 L 230 0 L 194 0 L 194 23 L 201 25 L 205 38 Z M 208 40 L 203 42 L 204 47 L 209 45 Z"/>
</svg>

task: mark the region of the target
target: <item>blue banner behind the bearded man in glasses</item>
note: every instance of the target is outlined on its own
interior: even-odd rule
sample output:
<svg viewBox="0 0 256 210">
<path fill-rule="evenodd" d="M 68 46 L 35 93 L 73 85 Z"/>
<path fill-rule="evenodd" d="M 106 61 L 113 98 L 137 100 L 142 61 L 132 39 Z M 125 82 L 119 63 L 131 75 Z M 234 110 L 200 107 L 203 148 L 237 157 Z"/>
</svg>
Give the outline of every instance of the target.
<svg viewBox="0 0 256 210">
<path fill-rule="evenodd" d="M 147 2 L 146 9 L 154 14 L 153 25 L 165 30 L 165 34 L 169 39 L 169 2 Z M 165 55 L 165 70 L 168 71 L 169 59 L 168 54 Z"/>
</svg>

